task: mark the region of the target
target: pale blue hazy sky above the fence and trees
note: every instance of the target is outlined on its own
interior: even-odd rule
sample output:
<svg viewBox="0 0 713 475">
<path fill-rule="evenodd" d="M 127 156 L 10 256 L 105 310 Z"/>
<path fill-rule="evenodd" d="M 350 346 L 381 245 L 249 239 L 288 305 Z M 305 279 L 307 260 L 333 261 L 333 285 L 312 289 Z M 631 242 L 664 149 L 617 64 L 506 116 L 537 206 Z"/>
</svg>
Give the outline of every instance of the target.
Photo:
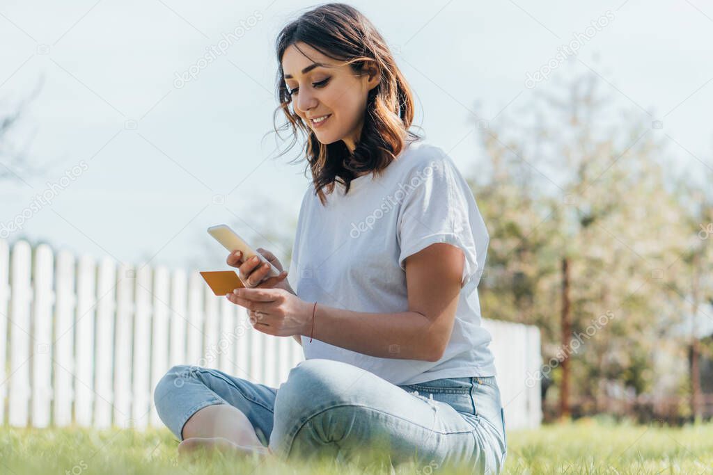
<svg viewBox="0 0 713 475">
<path fill-rule="evenodd" d="M 536 93 L 588 71 L 682 169 L 713 167 L 713 1 L 350 4 L 394 51 L 418 131 L 467 177 L 482 157 L 477 120 L 524 113 Z M 280 28 L 314 5 L 1 1 L 0 113 L 24 103 L 4 149 L 24 150 L 36 171 L 0 157 L 0 172 L 13 174 L 0 182 L 0 233 L 26 214 L 0 237 L 218 270 L 225 252 L 205 230 L 227 223 L 287 265 L 309 179 L 303 159 L 289 163 L 299 150 L 276 157 L 286 142 L 266 135 L 273 49 Z M 206 54 L 215 60 L 201 63 Z"/>
</svg>

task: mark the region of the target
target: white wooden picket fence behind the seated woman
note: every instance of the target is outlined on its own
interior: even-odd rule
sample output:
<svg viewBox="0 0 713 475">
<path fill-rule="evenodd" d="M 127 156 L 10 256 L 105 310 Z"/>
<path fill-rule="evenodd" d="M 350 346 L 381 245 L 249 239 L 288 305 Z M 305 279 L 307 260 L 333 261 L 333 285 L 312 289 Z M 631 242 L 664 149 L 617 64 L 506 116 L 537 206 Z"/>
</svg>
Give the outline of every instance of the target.
<svg viewBox="0 0 713 475">
<path fill-rule="evenodd" d="M 536 328 L 487 321 L 508 429 L 540 423 Z M 251 328 L 198 271 L 56 256 L 0 240 L 0 423 L 18 427 L 162 426 L 153 388 L 173 365 L 278 387 L 303 359 L 292 338 Z"/>
</svg>

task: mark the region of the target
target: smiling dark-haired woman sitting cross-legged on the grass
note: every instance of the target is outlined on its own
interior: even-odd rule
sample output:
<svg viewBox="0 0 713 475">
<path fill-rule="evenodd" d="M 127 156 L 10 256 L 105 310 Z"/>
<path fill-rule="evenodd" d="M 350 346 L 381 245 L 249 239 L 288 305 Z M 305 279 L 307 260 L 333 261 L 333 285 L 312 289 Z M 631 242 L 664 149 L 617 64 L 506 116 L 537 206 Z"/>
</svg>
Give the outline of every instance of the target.
<svg viewBox="0 0 713 475">
<path fill-rule="evenodd" d="M 231 254 L 247 288 L 226 297 L 306 360 L 279 389 L 173 367 L 158 414 L 181 451 L 354 460 L 379 447 L 392 464 L 497 473 L 506 437 L 477 291 L 488 233 L 466 180 L 408 131 L 409 85 L 356 9 L 303 14 L 279 33 L 277 60 L 280 109 L 294 140 L 304 132 L 312 172 L 294 289 L 260 249 L 280 275 L 263 281 L 267 268 Z"/>
</svg>

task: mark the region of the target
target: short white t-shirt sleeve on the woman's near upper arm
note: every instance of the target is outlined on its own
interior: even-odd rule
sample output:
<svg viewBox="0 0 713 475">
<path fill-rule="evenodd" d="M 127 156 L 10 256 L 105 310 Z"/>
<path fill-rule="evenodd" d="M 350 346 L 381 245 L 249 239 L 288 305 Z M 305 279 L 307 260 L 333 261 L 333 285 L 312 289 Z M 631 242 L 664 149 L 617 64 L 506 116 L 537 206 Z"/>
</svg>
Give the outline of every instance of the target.
<svg viewBox="0 0 713 475">
<path fill-rule="evenodd" d="M 409 172 L 399 210 L 399 266 L 406 257 L 434 243 L 447 243 L 465 254 L 461 286 L 471 291 L 483 273 L 488 232 L 466 179 L 451 157 L 435 149 L 432 158 Z"/>
</svg>

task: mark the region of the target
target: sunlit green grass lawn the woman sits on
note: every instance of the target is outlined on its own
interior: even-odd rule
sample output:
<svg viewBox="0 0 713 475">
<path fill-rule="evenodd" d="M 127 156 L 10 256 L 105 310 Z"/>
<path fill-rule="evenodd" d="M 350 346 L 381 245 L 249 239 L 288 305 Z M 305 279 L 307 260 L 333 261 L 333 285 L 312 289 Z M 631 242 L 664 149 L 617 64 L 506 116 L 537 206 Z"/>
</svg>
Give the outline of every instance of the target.
<svg viewBox="0 0 713 475">
<path fill-rule="evenodd" d="M 361 475 L 356 466 L 321 461 L 229 459 L 178 461 L 178 442 L 166 430 L 0 429 L 2 474 L 294 474 Z M 508 474 L 713 473 L 713 424 L 682 428 L 584 420 L 508 433 Z M 373 473 L 377 473 L 374 471 Z M 387 473 L 387 472 L 381 472 Z M 401 465 L 397 474 L 429 474 Z M 451 469 L 434 473 L 466 474 Z"/>
</svg>

